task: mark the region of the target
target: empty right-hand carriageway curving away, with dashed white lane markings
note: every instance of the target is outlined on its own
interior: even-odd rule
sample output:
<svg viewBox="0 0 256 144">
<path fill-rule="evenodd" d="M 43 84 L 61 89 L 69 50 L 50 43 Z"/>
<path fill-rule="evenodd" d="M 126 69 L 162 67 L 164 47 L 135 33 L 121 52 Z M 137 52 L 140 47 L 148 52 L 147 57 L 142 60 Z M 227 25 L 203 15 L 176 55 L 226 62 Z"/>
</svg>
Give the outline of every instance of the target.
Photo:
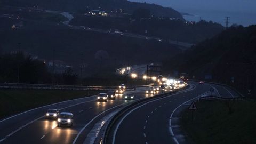
<svg viewBox="0 0 256 144">
<path fill-rule="evenodd" d="M 226 86 L 198 82 L 190 82 L 190 86 L 188 90 L 147 102 L 129 111 L 119 118 L 111 133 L 112 140 L 107 143 L 190 143 L 177 121 L 182 107 L 188 108 L 191 100 L 208 95 L 211 87 L 215 89 L 213 94 L 219 97 L 239 97 Z"/>
</svg>

